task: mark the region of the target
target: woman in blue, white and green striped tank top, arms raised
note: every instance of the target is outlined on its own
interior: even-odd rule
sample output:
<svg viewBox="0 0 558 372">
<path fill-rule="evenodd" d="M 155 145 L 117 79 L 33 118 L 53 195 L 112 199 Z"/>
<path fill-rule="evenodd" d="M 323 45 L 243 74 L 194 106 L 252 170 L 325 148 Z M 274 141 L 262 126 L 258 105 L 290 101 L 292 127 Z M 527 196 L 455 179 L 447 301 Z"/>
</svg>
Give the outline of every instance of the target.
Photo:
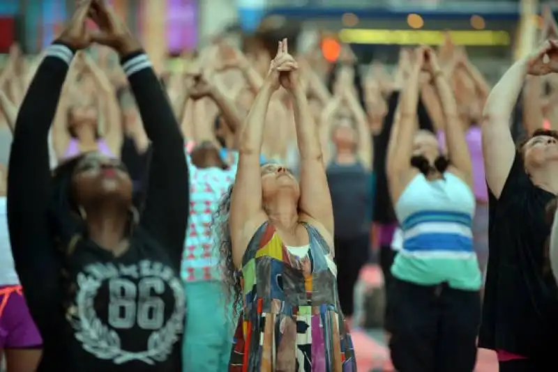
<svg viewBox="0 0 558 372">
<path fill-rule="evenodd" d="M 421 71 L 441 102 L 448 158 L 434 134 L 417 131 Z M 471 231 L 471 158 L 453 93 L 432 49 L 416 49 L 398 109 L 386 164 L 403 239 L 391 267 L 391 358 L 399 372 L 472 372 L 481 272 Z"/>
</svg>

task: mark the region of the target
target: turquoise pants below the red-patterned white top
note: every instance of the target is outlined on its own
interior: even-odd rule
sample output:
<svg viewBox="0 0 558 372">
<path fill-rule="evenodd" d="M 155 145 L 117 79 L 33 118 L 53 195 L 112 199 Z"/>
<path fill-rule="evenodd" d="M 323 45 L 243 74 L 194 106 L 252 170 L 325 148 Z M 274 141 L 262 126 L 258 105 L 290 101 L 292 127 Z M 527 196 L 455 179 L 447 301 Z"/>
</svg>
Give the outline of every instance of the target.
<svg viewBox="0 0 558 372">
<path fill-rule="evenodd" d="M 225 307 L 219 281 L 189 281 L 186 288 L 186 332 L 182 371 L 223 372 L 229 369 L 234 323 Z"/>
</svg>

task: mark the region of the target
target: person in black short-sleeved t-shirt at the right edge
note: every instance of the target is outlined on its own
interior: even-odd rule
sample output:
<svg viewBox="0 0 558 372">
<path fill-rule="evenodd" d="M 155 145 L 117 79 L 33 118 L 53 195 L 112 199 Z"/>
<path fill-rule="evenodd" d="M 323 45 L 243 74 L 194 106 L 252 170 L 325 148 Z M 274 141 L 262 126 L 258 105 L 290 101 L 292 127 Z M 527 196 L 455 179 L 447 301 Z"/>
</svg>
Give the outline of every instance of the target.
<svg viewBox="0 0 558 372">
<path fill-rule="evenodd" d="M 557 72 L 552 66 L 558 46 L 546 42 L 511 66 L 485 105 L 490 254 L 479 346 L 497 351 L 500 372 L 556 368 L 558 288 L 545 254 L 545 208 L 558 194 L 558 133 L 537 130 L 516 149 L 509 128 L 525 77 Z"/>
</svg>

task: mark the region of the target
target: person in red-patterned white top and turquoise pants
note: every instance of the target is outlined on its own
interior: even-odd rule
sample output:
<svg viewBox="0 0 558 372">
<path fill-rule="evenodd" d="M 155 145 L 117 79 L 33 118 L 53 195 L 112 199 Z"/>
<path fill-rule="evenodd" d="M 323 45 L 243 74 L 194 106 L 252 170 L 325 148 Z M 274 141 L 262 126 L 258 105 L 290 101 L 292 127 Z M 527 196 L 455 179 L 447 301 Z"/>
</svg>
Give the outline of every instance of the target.
<svg viewBox="0 0 558 372">
<path fill-rule="evenodd" d="M 193 78 L 188 95 L 196 102 L 203 98 L 215 100 L 227 122 L 240 124 L 232 102 L 203 76 Z M 201 122 L 204 118 L 195 120 Z M 199 122 L 196 125 L 203 124 Z M 214 249 L 218 237 L 211 224 L 221 197 L 234 182 L 238 156 L 229 166 L 213 142 L 204 141 L 187 159 L 190 162 L 190 218 L 181 269 L 188 304 L 183 371 L 227 371 L 235 324 L 231 304 L 223 301 L 218 250 Z"/>
</svg>

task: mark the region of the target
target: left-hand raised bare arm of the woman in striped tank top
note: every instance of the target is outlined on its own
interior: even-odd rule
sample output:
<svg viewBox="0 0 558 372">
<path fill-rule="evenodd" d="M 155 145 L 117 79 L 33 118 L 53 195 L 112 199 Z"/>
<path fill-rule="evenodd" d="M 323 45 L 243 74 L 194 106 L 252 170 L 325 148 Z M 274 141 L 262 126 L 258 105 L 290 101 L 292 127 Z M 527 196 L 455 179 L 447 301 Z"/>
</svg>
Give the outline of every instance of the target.
<svg viewBox="0 0 558 372">
<path fill-rule="evenodd" d="M 418 77 L 421 67 L 422 61 L 416 61 L 409 72 L 407 83 L 400 98 L 399 112 L 395 116 L 393 130 L 389 138 L 386 174 L 394 205 L 402 191 L 407 187 L 409 171 L 411 171 L 410 159 L 413 151 L 413 137 L 417 129 L 416 106 L 418 104 Z"/>
</svg>

